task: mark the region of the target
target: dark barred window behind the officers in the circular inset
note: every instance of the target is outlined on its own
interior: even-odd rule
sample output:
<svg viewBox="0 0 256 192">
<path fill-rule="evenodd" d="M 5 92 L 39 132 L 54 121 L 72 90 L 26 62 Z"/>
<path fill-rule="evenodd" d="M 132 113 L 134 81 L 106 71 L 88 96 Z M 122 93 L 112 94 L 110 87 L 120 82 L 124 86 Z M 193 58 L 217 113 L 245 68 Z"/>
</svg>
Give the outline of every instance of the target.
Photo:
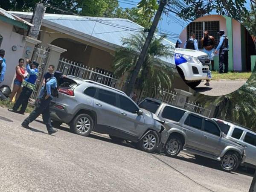
<svg viewBox="0 0 256 192">
<path fill-rule="evenodd" d="M 219 43 L 218 31 L 220 30 L 219 21 L 200 21 L 192 22 L 187 26 L 187 38 L 190 38 L 190 33 L 195 33 L 195 38 L 198 41 L 198 49 L 203 49 L 201 46 L 201 38 L 204 37 L 204 31 L 208 31 L 208 34 L 215 38 L 215 48 Z"/>
</svg>

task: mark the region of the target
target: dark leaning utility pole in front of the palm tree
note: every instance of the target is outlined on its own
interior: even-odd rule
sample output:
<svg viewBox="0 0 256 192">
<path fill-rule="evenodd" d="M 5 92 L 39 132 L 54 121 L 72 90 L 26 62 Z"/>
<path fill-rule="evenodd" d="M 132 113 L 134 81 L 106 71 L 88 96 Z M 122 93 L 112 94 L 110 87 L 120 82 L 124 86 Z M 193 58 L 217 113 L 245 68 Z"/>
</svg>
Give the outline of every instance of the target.
<svg viewBox="0 0 256 192">
<path fill-rule="evenodd" d="M 153 23 L 152 23 L 151 28 L 150 28 L 150 30 L 148 32 L 148 36 L 146 38 L 145 44 L 144 44 L 144 46 L 143 46 L 143 48 L 142 48 L 142 50 L 140 52 L 140 56 L 139 56 L 139 59 L 138 59 L 138 61 L 136 63 L 135 69 L 134 69 L 134 71 L 131 74 L 130 82 L 129 82 L 129 84 L 126 87 L 126 91 L 125 92 L 126 92 L 126 94 L 128 96 L 131 94 L 131 92 L 132 92 L 132 90 L 134 88 L 134 84 L 135 84 L 135 81 L 137 79 L 138 73 L 140 71 L 140 67 L 142 66 L 142 64 L 143 64 L 143 62 L 145 60 L 145 56 L 146 56 L 146 54 L 148 52 L 148 47 L 149 47 L 149 45 L 150 45 L 150 43 L 152 41 L 152 38 L 154 36 L 154 32 L 155 32 L 155 30 L 157 28 L 157 24 L 158 24 L 158 22 L 160 20 L 160 17 L 162 15 L 162 13 L 163 13 L 163 9 L 166 6 L 166 3 L 167 3 L 167 0 L 161 0 L 160 1 L 159 7 L 157 9 L 157 13 L 154 16 Z"/>
</svg>

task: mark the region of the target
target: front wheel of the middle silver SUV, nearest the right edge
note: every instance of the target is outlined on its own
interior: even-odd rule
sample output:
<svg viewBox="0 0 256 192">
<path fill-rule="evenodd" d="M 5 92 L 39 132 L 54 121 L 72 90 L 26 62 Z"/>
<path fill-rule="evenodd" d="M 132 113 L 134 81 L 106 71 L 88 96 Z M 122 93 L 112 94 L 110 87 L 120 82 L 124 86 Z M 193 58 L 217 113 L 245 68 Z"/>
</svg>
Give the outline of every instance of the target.
<svg viewBox="0 0 256 192">
<path fill-rule="evenodd" d="M 239 159 L 235 153 L 227 152 L 221 158 L 221 169 L 225 172 L 232 172 L 239 166 Z"/>
</svg>

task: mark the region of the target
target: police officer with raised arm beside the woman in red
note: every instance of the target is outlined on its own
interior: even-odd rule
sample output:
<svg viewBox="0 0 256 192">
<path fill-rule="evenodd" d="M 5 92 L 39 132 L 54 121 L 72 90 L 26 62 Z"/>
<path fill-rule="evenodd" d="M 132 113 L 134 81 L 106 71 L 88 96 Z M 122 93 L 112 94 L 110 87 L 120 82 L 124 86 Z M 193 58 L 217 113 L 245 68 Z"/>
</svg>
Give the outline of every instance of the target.
<svg viewBox="0 0 256 192">
<path fill-rule="evenodd" d="M 31 96 L 33 90 L 35 89 L 35 81 L 38 78 L 38 69 L 37 69 L 38 65 L 39 64 L 35 61 L 31 62 L 29 59 L 27 60 L 26 70 L 29 73 L 29 75 L 22 82 L 23 88 L 20 93 L 20 96 L 15 102 L 15 104 L 13 105 L 13 108 L 8 109 L 9 111 L 24 114 L 29 102 L 29 97 Z M 20 111 L 17 111 L 20 105 L 21 105 Z"/>
</svg>

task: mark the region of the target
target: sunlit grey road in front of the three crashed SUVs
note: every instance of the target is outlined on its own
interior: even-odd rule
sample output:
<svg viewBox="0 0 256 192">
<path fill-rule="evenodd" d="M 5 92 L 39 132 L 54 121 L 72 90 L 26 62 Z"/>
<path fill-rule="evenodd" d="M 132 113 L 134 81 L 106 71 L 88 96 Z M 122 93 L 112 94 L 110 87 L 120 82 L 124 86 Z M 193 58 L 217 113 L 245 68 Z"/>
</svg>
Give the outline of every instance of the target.
<svg viewBox="0 0 256 192">
<path fill-rule="evenodd" d="M 61 127 L 55 136 L 41 122 L 20 127 L 26 116 L 0 108 L 0 191 L 247 192 L 252 177 L 226 173 L 211 160 L 148 154 L 109 138 L 82 137 Z M 39 121 L 41 119 L 38 119 Z"/>
</svg>

